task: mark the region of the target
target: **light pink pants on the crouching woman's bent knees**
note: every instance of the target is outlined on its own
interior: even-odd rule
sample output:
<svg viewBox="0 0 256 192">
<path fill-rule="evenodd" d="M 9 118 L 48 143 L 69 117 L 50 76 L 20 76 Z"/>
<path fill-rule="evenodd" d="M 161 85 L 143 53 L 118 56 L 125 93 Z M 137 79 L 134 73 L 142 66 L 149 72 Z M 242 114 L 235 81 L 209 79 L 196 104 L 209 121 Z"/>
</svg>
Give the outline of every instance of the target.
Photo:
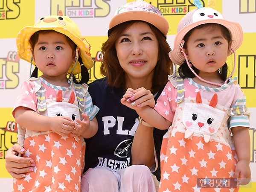
<svg viewBox="0 0 256 192">
<path fill-rule="evenodd" d="M 156 187 L 147 166 L 133 165 L 118 172 L 96 167 L 82 175 L 81 192 L 156 192 Z"/>
</svg>

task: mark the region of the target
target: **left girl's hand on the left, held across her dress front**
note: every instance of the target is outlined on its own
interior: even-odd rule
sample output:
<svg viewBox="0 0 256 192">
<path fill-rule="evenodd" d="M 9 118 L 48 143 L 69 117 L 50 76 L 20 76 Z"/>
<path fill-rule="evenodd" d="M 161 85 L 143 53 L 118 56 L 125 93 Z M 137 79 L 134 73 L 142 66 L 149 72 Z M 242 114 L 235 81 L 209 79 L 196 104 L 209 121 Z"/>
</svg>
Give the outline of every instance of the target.
<svg viewBox="0 0 256 192">
<path fill-rule="evenodd" d="M 75 122 L 73 122 L 67 116 L 55 116 L 50 118 L 50 129 L 61 136 L 67 136 L 71 133 L 75 127 Z"/>
</svg>

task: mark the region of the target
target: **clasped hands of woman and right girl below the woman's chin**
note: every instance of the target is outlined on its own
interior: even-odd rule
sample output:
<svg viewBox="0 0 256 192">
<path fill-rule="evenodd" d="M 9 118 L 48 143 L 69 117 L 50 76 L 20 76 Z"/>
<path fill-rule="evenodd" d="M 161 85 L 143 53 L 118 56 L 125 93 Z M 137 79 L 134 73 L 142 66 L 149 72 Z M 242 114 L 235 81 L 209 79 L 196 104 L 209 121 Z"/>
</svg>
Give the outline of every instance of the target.
<svg viewBox="0 0 256 192">
<path fill-rule="evenodd" d="M 146 105 L 154 108 L 155 105 L 153 94 L 150 90 L 146 90 L 144 87 L 141 87 L 137 90 L 128 88 L 123 98 L 121 99 L 121 103 L 135 110 Z"/>
</svg>

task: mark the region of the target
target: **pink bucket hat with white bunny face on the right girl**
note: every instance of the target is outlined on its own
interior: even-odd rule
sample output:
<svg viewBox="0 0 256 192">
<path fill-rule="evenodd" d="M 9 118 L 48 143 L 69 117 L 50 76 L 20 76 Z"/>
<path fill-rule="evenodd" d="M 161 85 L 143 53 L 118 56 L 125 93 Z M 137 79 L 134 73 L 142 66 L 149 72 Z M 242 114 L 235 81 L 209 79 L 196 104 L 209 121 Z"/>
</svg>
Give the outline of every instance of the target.
<svg viewBox="0 0 256 192">
<path fill-rule="evenodd" d="M 181 65 L 184 61 L 184 55 L 180 50 L 181 42 L 184 36 L 196 26 L 206 23 L 217 23 L 226 27 L 231 34 L 231 48 L 235 51 L 240 47 L 243 41 L 243 29 L 239 23 L 225 20 L 220 12 L 209 7 L 193 9 L 188 12 L 179 22 L 177 35 L 175 36 L 173 50 L 169 52 L 169 57 L 175 64 Z"/>
</svg>

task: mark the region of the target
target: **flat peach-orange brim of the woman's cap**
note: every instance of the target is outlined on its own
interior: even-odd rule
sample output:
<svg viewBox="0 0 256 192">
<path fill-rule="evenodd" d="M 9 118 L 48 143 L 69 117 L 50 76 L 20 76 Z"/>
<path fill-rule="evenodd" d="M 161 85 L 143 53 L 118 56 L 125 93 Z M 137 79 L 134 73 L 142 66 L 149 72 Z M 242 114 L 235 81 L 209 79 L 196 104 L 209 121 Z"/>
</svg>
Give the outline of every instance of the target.
<svg viewBox="0 0 256 192">
<path fill-rule="evenodd" d="M 115 15 L 110 23 L 109 29 L 113 28 L 114 26 L 124 23 L 130 20 L 142 20 L 154 25 L 163 35 L 167 35 L 169 30 L 169 23 L 165 17 L 158 15 L 154 12 L 145 12 L 145 11 L 130 11 L 130 12 L 123 12 Z"/>
</svg>

